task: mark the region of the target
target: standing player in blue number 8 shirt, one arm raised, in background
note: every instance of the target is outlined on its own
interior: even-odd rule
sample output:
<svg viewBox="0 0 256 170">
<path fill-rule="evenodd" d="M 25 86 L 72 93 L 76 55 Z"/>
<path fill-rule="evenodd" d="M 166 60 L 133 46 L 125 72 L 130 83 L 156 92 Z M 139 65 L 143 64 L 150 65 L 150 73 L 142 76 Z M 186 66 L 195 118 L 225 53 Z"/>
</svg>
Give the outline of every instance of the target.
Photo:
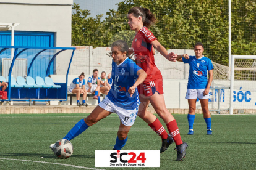
<svg viewBox="0 0 256 170">
<path fill-rule="evenodd" d="M 203 44 L 198 42 L 194 46 L 195 56 L 187 54 L 178 55 L 177 61 L 189 64 L 189 82 L 187 83 L 186 99 L 189 102 L 189 133 L 194 134 L 193 124 L 195 120 L 195 103 L 197 97 L 200 100 L 203 110 L 203 118 L 207 124 L 207 134 L 211 135 L 211 114 L 208 109 L 208 101 L 210 98 L 209 90 L 213 81 L 213 64 L 211 60 L 203 56 Z M 207 81 L 207 71 L 209 73 L 209 81 Z"/>
</svg>

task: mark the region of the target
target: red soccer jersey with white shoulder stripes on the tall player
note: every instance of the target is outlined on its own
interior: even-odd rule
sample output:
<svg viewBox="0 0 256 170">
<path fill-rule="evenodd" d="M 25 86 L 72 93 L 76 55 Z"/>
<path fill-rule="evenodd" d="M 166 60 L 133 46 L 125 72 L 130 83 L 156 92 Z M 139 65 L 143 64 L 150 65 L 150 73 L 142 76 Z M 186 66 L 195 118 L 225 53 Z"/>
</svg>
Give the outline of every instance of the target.
<svg viewBox="0 0 256 170">
<path fill-rule="evenodd" d="M 146 82 L 162 78 L 160 70 L 156 67 L 155 58 L 152 52 L 151 42 L 154 40 L 158 39 L 144 26 L 135 35 L 134 41 L 132 41 L 135 62 L 148 75 L 145 79 Z"/>
</svg>

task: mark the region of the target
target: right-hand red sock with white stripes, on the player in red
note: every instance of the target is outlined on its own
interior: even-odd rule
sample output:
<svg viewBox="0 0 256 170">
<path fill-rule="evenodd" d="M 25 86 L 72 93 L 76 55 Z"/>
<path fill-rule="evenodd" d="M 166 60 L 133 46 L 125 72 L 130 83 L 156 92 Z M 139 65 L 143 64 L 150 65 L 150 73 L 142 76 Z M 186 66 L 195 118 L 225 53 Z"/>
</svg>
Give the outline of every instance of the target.
<svg viewBox="0 0 256 170">
<path fill-rule="evenodd" d="M 181 140 L 181 135 L 179 134 L 179 129 L 177 127 L 176 120 L 170 121 L 168 124 L 166 124 L 166 126 L 167 126 L 167 129 L 168 129 L 171 137 L 173 137 L 175 144 L 181 145 L 183 142 Z"/>
</svg>

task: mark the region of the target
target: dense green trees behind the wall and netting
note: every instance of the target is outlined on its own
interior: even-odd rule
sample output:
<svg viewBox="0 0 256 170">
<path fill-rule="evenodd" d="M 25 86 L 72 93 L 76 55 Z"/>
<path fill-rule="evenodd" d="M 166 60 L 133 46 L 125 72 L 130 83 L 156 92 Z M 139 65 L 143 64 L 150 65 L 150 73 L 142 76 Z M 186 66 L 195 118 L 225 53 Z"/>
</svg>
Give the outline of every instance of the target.
<svg viewBox="0 0 256 170">
<path fill-rule="evenodd" d="M 98 15 L 96 19 L 86 18 L 90 13 L 74 6 L 74 9 L 83 14 L 83 19 L 77 14 L 74 17 L 77 19 L 74 38 L 87 41 L 94 47 L 110 46 L 117 39 L 131 44 L 134 32 L 127 25 L 127 13 L 134 6 L 147 7 L 155 14 L 158 22 L 150 30 L 167 49 L 193 49 L 196 42 L 202 42 L 205 45 L 205 56 L 228 65 L 228 0 L 126 0 L 118 4 L 117 11 L 109 9 L 102 22 L 102 15 Z M 85 27 L 83 22 L 91 25 Z M 81 28 L 83 31 L 79 31 Z M 233 0 L 232 54 L 255 55 L 255 38 L 255 2 Z"/>
</svg>

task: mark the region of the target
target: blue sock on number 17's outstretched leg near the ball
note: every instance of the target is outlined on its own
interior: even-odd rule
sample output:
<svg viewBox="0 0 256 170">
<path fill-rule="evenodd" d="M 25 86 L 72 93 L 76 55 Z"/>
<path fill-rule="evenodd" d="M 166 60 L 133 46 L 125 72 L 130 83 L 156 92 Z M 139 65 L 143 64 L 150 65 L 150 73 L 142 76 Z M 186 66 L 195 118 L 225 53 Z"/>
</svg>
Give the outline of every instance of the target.
<svg viewBox="0 0 256 170">
<path fill-rule="evenodd" d="M 89 126 L 85 123 L 85 120 L 82 119 L 67 133 L 67 135 L 63 139 L 72 140 L 75 137 L 82 134 Z"/>
</svg>

